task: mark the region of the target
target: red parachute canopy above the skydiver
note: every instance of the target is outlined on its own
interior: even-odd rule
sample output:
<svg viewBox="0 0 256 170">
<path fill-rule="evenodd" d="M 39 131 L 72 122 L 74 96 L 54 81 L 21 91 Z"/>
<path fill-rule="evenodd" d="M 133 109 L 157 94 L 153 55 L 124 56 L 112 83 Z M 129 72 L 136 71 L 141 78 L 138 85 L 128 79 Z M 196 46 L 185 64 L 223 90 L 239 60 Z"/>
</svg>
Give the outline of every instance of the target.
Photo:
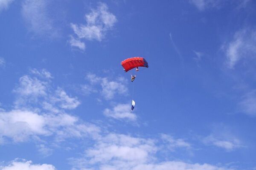
<svg viewBox="0 0 256 170">
<path fill-rule="evenodd" d="M 146 67 L 148 68 L 148 62 L 143 57 L 132 57 L 125 59 L 121 62 L 124 71 L 127 72 L 136 67 Z"/>
</svg>

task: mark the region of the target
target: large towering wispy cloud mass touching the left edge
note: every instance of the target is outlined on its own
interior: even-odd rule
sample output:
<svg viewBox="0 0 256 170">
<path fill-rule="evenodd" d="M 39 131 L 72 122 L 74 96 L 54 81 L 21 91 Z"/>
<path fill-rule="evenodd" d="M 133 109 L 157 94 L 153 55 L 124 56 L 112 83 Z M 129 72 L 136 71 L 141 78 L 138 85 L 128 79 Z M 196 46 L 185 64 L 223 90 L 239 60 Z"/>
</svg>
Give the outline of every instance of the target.
<svg viewBox="0 0 256 170">
<path fill-rule="evenodd" d="M 37 139 L 39 152 L 48 155 L 51 148 L 38 140 L 41 137 L 60 142 L 67 138 L 97 136 L 99 127 L 66 113 L 80 104 L 76 97 L 70 97 L 62 88 L 54 90 L 50 81 L 53 78 L 47 70 L 30 72 L 31 75 L 20 78 L 14 90 L 15 109 L 0 111 L 2 144 Z"/>
</svg>

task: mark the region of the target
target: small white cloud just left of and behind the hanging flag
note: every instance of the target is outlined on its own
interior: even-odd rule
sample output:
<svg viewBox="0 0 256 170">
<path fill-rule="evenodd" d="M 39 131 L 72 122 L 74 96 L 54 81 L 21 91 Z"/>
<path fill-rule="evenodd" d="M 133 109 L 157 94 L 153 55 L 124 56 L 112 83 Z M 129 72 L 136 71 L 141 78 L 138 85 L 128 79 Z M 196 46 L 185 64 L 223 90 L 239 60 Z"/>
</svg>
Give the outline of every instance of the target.
<svg viewBox="0 0 256 170">
<path fill-rule="evenodd" d="M 104 110 L 104 115 L 114 118 L 114 119 L 123 119 L 126 121 L 136 121 L 137 116 L 134 113 L 130 112 L 130 104 L 118 104 L 114 106 L 113 110 L 106 108 Z"/>
</svg>

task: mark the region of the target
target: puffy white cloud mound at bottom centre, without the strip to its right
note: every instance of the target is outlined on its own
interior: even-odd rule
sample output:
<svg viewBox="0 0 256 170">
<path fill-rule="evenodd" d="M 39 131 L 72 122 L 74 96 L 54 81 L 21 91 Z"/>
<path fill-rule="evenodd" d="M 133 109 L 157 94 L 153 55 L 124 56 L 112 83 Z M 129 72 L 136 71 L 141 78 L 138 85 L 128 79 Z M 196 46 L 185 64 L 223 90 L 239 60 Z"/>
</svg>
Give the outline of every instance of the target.
<svg viewBox="0 0 256 170">
<path fill-rule="evenodd" d="M 82 159 L 71 159 L 75 167 L 90 168 L 99 165 L 99 169 L 115 166 L 126 170 L 136 164 L 150 161 L 151 154 L 157 150 L 151 139 L 134 138 L 128 135 L 110 133 L 99 138 L 96 144 L 85 151 Z"/>
</svg>

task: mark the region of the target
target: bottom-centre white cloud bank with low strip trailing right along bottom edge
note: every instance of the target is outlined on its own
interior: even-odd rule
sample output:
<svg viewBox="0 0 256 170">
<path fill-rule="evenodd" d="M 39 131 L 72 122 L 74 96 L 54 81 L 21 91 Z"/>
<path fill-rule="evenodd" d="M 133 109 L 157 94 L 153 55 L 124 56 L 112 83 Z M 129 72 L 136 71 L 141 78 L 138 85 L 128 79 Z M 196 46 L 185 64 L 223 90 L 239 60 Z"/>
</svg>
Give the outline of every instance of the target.
<svg viewBox="0 0 256 170">
<path fill-rule="evenodd" d="M 158 161 L 158 149 L 152 139 L 110 133 L 85 150 L 84 157 L 70 161 L 73 170 L 231 170 L 210 164 Z"/>
</svg>

